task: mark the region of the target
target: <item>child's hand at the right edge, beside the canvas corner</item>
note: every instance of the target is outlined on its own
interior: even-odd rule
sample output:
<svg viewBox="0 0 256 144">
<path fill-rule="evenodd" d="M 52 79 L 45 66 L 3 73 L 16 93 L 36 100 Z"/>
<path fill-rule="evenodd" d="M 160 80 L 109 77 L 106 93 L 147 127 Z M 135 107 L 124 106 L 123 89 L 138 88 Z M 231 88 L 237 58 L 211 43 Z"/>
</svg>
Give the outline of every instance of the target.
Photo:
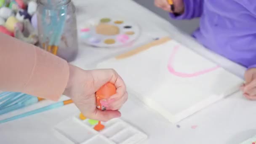
<svg viewBox="0 0 256 144">
<path fill-rule="evenodd" d="M 243 95 L 250 100 L 256 100 L 256 68 L 245 72 L 245 84 L 241 87 Z"/>
</svg>

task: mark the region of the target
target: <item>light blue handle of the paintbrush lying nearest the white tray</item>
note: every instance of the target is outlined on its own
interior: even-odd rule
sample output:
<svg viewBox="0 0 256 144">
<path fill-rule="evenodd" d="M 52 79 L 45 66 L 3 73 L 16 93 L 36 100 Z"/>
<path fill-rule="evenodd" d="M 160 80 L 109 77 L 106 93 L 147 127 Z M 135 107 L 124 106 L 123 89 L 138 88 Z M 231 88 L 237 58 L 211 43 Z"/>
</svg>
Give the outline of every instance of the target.
<svg viewBox="0 0 256 144">
<path fill-rule="evenodd" d="M 42 107 L 42 108 L 39 108 L 39 109 L 35 109 L 33 111 L 30 111 L 30 112 L 25 112 L 23 114 L 20 114 L 20 115 L 16 115 L 14 117 L 10 117 L 10 118 L 7 118 L 5 120 L 0 120 L 0 123 L 6 123 L 8 121 L 12 121 L 12 120 L 17 120 L 19 118 L 22 118 L 22 117 L 27 117 L 29 115 L 35 115 L 37 113 L 40 113 L 40 112 L 44 112 L 44 111 L 47 111 L 47 110 L 50 110 L 50 109 L 55 109 L 55 108 L 58 108 L 58 107 L 61 107 L 63 106 L 63 101 L 60 101 L 60 102 L 57 102 L 55 104 L 51 104 L 49 106 L 46 106 L 46 107 Z"/>
</svg>

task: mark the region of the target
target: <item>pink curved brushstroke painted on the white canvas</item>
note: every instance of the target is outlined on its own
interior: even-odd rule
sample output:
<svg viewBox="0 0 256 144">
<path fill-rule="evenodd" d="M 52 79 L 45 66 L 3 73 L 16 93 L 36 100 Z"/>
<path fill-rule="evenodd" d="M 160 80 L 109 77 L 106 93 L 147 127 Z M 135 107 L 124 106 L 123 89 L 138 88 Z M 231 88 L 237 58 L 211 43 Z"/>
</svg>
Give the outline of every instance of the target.
<svg viewBox="0 0 256 144">
<path fill-rule="evenodd" d="M 168 62 L 168 70 L 173 75 L 176 75 L 178 77 L 196 77 L 196 76 L 199 76 L 199 75 L 204 75 L 205 73 L 214 71 L 214 70 L 219 68 L 219 66 L 216 66 L 216 67 L 212 67 L 212 68 L 209 68 L 209 69 L 204 69 L 204 70 L 199 71 L 199 72 L 194 72 L 192 74 L 187 74 L 187 73 L 184 73 L 184 72 L 176 72 L 175 69 L 172 67 L 172 63 L 173 63 L 173 59 L 174 59 L 175 54 L 178 51 L 178 49 L 179 49 L 179 45 L 176 45 L 173 48 L 173 52 L 171 53 L 171 57 L 170 57 L 169 62 Z"/>
</svg>

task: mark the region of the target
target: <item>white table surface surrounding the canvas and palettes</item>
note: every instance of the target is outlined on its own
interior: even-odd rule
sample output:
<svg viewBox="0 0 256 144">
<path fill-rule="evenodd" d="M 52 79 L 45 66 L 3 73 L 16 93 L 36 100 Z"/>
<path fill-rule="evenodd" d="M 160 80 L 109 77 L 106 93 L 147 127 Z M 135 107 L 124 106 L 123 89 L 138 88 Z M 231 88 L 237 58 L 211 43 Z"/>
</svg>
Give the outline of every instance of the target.
<svg viewBox="0 0 256 144">
<path fill-rule="evenodd" d="M 203 56 L 221 64 L 230 72 L 243 77 L 245 68 L 206 50 L 168 21 L 134 3 L 132 0 L 74 0 L 77 6 L 78 27 L 95 16 L 122 17 L 141 25 L 142 34 L 131 47 L 119 49 L 91 48 L 80 43 L 80 52 L 73 64 L 88 68 L 88 64 L 139 45 L 153 37 L 170 36 Z M 213 104 L 176 124 L 169 123 L 141 102 L 130 99 L 121 109 L 122 118 L 137 126 L 148 136 L 145 144 L 239 144 L 256 134 L 256 102 L 243 98 L 241 93 Z M 67 99 L 62 97 L 61 100 Z M 53 103 L 41 101 L 25 109 L 1 115 L 0 119 Z M 53 132 L 53 126 L 79 113 L 74 104 L 43 112 L 0 125 L 0 144 L 63 144 Z M 145 123 L 147 122 L 147 123 Z M 192 129 L 192 125 L 197 125 Z"/>
</svg>

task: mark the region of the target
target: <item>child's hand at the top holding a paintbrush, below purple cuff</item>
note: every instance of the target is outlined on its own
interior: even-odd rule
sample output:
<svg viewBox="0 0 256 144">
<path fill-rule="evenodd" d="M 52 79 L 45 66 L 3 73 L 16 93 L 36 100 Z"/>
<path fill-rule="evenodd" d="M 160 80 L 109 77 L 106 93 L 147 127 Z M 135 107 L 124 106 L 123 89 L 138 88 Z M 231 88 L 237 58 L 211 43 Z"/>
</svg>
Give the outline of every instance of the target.
<svg viewBox="0 0 256 144">
<path fill-rule="evenodd" d="M 182 14 L 184 12 L 183 0 L 173 0 L 173 4 L 175 7 L 174 13 Z M 165 11 L 173 13 L 173 11 L 171 11 L 171 5 L 168 3 L 168 0 L 155 0 L 155 6 Z"/>
</svg>

